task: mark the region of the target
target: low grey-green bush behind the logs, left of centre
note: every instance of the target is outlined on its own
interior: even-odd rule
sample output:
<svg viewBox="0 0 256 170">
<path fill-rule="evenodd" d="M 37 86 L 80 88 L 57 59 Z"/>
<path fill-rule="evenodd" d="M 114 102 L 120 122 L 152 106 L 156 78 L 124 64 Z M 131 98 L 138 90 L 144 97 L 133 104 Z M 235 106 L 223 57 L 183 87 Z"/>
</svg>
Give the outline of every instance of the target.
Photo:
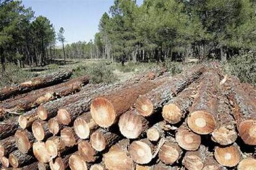
<svg viewBox="0 0 256 170">
<path fill-rule="evenodd" d="M 79 65 L 75 68 L 73 76 L 83 75 L 90 76 L 90 83 L 114 83 L 114 81 L 117 81 L 117 77 L 113 73 L 113 68 L 111 65 L 106 65 L 105 62 Z"/>
</svg>

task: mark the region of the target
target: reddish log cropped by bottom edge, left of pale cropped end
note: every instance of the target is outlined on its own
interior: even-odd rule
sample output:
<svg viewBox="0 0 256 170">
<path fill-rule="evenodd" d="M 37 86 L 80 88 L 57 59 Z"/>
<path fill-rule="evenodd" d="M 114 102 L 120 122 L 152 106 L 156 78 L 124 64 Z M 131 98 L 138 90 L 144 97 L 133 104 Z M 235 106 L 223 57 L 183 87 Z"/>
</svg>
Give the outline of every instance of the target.
<svg viewBox="0 0 256 170">
<path fill-rule="evenodd" d="M 49 166 L 51 170 L 65 170 L 69 168 L 69 158 L 70 155 L 64 156 L 64 158 L 58 157 L 49 162 Z"/>
</svg>

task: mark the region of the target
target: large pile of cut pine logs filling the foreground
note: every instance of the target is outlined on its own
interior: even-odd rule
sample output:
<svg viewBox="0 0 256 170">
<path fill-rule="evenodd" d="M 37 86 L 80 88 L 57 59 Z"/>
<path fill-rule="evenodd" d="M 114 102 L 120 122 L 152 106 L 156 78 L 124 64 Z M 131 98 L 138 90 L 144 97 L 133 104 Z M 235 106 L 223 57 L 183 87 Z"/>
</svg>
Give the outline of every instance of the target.
<svg viewBox="0 0 256 170">
<path fill-rule="evenodd" d="M 86 85 L 88 79 L 36 91 Z M 256 169 L 255 91 L 212 64 L 173 77 L 148 73 L 112 85 L 87 84 L 2 121 L 0 166 Z"/>
</svg>

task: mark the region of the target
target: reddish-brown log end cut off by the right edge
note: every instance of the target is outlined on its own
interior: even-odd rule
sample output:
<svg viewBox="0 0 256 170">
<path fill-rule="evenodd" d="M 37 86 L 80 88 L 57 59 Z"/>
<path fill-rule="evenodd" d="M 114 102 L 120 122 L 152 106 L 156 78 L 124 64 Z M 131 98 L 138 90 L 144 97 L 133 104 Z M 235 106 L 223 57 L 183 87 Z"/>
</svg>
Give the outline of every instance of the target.
<svg viewBox="0 0 256 170">
<path fill-rule="evenodd" d="M 238 127 L 239 134 L 247 145 L 256 145 L 256 121 L 248 119 L 242 121 Z"/>
</svg>

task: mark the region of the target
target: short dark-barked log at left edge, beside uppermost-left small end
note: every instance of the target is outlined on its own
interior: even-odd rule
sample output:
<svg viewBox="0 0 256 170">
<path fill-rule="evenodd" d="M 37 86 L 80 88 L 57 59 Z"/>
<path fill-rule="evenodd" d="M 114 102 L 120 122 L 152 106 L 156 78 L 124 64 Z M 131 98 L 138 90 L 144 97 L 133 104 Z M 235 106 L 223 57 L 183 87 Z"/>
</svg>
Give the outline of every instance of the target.
<svg viewBox="0 0 256 170">
<path fill-rule="evenodd" d="M 6 119 L 0 123 L 0 139 L 12 136 L 19 129 L 17 117 Z"/>
</svg>

